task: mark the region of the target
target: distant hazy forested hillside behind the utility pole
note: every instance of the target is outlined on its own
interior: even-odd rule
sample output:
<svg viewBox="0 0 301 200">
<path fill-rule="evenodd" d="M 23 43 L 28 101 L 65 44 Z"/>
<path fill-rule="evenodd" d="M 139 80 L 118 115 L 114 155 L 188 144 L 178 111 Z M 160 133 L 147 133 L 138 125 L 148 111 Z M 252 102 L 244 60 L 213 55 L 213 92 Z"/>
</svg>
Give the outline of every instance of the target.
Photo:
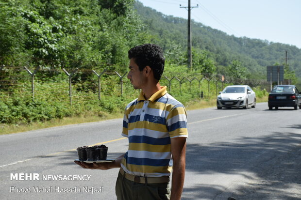
<svg viewBox="0 0 301 200">
<path fill-rule="evenodd" d="M 156 10 L 145 7 L 139 1 L 134 8 L 141 20 L 150 28 L 152 39 L 170 48 L 173 44 L 186 51 L 187 20 L 171 15 L 164 15 Z M 301 49 L 296 46 L 272 43 L 266 40 L 235 37 L 225 32 L 204 26 L 192 20 L 192 46 L 207 50 L 210 58 L 217 64 L 217 72 L 223 73 L 225 67 L 233 60 L 239 60 L 248 69 L 249 77 L 266 78 L 266 66 L 285 62 L 285 51 L 288 52 L 288 64 L 291 70 L 301 77 Z"/>
</svg>

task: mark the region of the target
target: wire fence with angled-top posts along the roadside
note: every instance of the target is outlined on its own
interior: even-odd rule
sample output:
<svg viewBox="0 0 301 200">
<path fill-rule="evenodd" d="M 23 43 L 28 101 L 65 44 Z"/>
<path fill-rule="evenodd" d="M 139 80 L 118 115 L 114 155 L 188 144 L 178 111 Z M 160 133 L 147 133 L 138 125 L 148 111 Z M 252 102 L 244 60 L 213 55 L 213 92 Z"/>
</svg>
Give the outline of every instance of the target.
<svg viewBox="0 0 301 200">
<path fill-rule="evenodd" d="M 133 93 L 127 80 L 127 72 L 108 69 L 51 69 L 26 66 L 0 66 L 0 92 L 30 92 L 35 95 L 60 96 L 69 100 L 76 99 L 77 92 L 93 93 L 98 100 L 103 95 L 122 96 L 124 92 Z M 161 85 L 167 85 L 169 93 L 196 92 L 197 96 L 216 96 L 227 85 L 249 85 L 269 91 L 270 83 L 259 79 L 239 79 L 217 74 L 180 74 L 163 75 Z M 51 84 L 50 84 L 51 83 Z M 50 85 L 49 85 L 50 84 Z M 43 93 L 43 88 L 52 87 L 50 93 Z M 42 91 L 41 91 L 42 90 Z M 187 91 L 188 90 L 188 91 Z M 57 95 L 61 93 L 61 95 Z M 91 95 L 86 95 L 91 98 Z M 62 99 L 62 100 L 66 100 Z"/>
</svg>

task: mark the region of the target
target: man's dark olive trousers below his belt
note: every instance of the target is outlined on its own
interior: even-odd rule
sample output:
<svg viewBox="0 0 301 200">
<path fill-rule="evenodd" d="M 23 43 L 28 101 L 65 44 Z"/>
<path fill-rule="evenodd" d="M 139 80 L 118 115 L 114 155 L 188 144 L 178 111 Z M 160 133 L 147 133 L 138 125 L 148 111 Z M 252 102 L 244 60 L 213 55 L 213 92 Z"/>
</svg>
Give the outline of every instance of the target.
<svg viewBox="0 0 301 200">
<path fill-rule="evenodd" d="M 116 181 L 117 200 L 169 200 L 169 183 L 140 184 L 118 173 Z"/>
</svg>

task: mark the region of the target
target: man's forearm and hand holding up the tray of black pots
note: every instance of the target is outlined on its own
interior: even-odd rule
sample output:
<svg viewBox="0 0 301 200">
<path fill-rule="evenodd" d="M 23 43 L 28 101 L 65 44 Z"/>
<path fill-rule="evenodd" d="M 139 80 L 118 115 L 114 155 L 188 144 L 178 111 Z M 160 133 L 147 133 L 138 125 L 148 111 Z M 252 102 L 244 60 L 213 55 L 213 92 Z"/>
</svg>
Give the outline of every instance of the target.
<svg viewBox="0 0 301 200">
<path fill-rule="evenodd" d="M 120 155 L 117 157 L 117 159 L 114 162 L 111 163 L 84 163 L 81 161 L 74 161 L 76 164 L 81 166 L 84 169 L 102 169 L 102 170 L 107 170 L 107 169 L 112 169 L 112 168 L 120 168 L 120 163 L 122 158 L 124 157 L 124 154 Z"/>
</svg>

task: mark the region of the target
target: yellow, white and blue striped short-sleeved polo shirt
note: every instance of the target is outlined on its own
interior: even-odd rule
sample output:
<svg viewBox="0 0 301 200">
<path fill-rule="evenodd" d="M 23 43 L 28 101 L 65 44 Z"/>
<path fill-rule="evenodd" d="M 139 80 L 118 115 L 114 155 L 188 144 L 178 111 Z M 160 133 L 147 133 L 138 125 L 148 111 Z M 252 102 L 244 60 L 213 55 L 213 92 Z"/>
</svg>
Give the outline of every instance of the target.
<svg viewBox="0 0 301 200">
<path fill-rule="evenodd" d="M 188 137 L 186 110 L 166 86 L 148 100 L 141 91 L 125 109 L 121 135 L 129 139 L 129 150 L 121 161 L 126 173 L 169 176 L 170 138 Z"/>
</svg>

